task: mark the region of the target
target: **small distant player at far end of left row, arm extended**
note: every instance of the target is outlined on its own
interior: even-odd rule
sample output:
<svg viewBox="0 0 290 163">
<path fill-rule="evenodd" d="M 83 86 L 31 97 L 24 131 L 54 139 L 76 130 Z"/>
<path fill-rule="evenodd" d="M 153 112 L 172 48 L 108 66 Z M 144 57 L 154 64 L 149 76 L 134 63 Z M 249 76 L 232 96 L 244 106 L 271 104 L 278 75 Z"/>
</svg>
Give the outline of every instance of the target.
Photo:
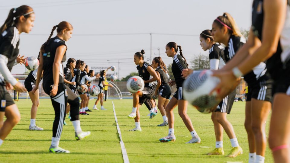
<svg viewBox="0 0 290 163">
<path fill-rule="evenodd" d="M 108 69 L 106 69 L 106 70 L 101 70 L 101 74 L 99 74 L 100 75 L 100 79 L 99 79 L 99 84 L 98 84 L 98 86 L 100 87 L 100 89 L 101 89 L 101 93 L 99 93 L 98 94 L 98 98 L 97 98 L 97 100 L 96 100 L 96 102 L 95 102 L 95 105 L 94 105 L 94 107 L 93 107 L 93 109 L 95 109 L 95 110 L 98 110 L 98 108 L 97 108 L 97 104 L 98 104 L 98 101 L 100 100 L 100 103 L 101 103 L 101 110 L 107 110 L 107 109 L 105 109 L 104 108 L 104 103 L 103 103 L 103 101 L 104 101 L 104 87 L 105 86 L 110 86 L 110 87 L 113 87 L 113 85 L 111 85 L 111 84 L 105 84 L 105 81 L 107 81 L 107 78 L 106 78 L 106 75 L 107 75 L 107 71 L 110 69 L 111 67 L 109 67 Z"/>
</svg>

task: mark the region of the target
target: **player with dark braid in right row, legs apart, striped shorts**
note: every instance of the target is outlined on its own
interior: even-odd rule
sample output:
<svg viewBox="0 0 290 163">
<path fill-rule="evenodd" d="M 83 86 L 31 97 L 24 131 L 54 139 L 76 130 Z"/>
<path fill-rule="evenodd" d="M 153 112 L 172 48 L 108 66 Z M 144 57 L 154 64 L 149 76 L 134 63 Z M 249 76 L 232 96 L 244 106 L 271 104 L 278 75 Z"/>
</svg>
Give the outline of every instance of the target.
<svg viewBox="0 0 290 163">
<path fill-rule="evenodd" d="M 177 54 L 179 48 L 180 55 Z M 190 118 L 187 115 L 187 105 L 188 101 L 185 101 L 183 99 L 182 95 L 182 84 L 184 82 L 184 78 L 182 78 L 182 70 L 188 68 L 188 64 L 186 63 L 186 60 L 184 56 L 182 55 L 182 49 L 181 46 L 178 46 L 175 42 L 169 42 L 165 46 L 165 53 L 168 57 L 173 58 L 172 63 L 172 73 L 174 75 L 175 81 L 170 81 L 169 85 L 172 86 L 176 84 L 177 91 L 174 93 L 173 97 L 167 104 L 165 110 L 166 115 L 168 117 L 168 124 L 169 124 L 169 133 L 168 136 L 165 136 L 161 139 L 159 139 L 160 142 L 169 142 L 169 141 L 175 141 L 176 137 L 174 135 L 174 114 L 173 109 L 178 106 L 178 113 L 179 116 L 182 118 L 185 126 L 189 130 L 192 139 L 187 143 L 200 143 L 201 139 L 197 135 L 196 131 L 194 130 L 192 126 L 192 122 Z"/>
</svg>

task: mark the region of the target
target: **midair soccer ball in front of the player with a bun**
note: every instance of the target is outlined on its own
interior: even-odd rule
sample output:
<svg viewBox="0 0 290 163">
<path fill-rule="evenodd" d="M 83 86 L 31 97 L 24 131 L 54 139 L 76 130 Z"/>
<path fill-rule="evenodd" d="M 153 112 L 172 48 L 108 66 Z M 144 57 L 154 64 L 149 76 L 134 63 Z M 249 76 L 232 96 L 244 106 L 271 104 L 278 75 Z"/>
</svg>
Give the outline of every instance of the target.
<svg viewBox="0 0 290 163">
<path fill-rule="evenodd" d="M 132 76 L 127 80 L 127 89 L 133 93 L 143 91 L 144 85 L 144 81 L 140 76 Z"/>
</svg>

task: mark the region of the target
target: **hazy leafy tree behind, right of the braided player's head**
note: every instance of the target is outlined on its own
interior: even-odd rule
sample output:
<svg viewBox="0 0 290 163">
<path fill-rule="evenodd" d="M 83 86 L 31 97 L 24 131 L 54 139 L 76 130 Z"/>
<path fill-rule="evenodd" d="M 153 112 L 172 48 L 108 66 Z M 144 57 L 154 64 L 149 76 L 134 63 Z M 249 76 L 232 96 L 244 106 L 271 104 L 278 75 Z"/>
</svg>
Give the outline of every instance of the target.
<svg viewBox="0 0 290 163">
<path fill-rule="evenodd" d="M 210 69 L 209 57 L 203 54 L 194 55 L 190 62 L 192 64 L 191 69 L 193 70 Z"/>
</svg>

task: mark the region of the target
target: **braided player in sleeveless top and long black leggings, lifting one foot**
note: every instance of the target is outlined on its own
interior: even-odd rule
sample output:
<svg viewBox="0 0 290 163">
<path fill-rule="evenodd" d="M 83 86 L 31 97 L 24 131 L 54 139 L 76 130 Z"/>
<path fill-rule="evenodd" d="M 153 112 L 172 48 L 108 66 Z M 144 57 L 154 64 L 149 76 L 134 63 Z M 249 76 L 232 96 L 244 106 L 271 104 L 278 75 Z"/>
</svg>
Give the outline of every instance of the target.
<svg viewBox="0 0 290 163">
<path fill-rule="evenodd" d="M 57 28 L 57 29 L 56 29 Z M 56 37 L 51 38 L 56 29 Z M 66 116 L 66 103 L 71 105 L 70 113 L 72 125 L 75 129 L 76 140 L 83 139 L 91 132 L 83 132 L 79 121 L 79 98 L 65 84 L 63 79 L 63 65 L 66 60 L 66 42 L 72 35 L 72 25 L 66 21 L 53 26 L 50 36 L 40 49 L 40 62 L 37 72 L 36 85 L 33 92 L 38 89 L 40 75 L 43 71 L 43 90 L 50 95 L 51 103 L 55 111 L 53 122 L 53 136 L 50 152 L 69 153 L 68 150 L 59 147 L 60 136 L 63 130 L 63 120 Z M 84 66 L 83 66 L 84 67 Z"/>
</svg>

